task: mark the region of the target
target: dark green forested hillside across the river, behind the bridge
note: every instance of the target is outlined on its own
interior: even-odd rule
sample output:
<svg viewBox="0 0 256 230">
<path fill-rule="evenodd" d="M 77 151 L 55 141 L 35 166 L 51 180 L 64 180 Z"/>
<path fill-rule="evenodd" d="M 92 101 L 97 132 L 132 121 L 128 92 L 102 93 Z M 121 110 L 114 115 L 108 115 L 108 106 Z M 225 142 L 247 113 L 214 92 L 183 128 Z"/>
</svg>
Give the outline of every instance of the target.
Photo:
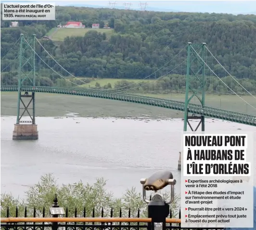
<svg viewBox="0 0 256 230">
<path fill-rule="evenodd" d="M 63 42 L 55 44 L 40 41 L 56 61 L 74 76 L 141 79 L 170 61 L 187 42 L 205 42 L 231 75 L 241 80 L 249 78 L 251 87 L 256 87 L 256 15 L 57 7 L 56 21 L 45 24 L 43 21 L 21 21 L 22 27 L 1 28 L 1 57 L 13 46 L 21 32 L 36 33 L 41 38 L 51 27 L 70 20 L 81 21 L 86 27 L 92 23 L 100 23 L 101 27 L 108 23 L 115 30 L 110 38 L 95 30 L 89 31 L 84 37 L 70 35 Z M 3 26 L 8 26 L 8 23 L 1 21 Z M 56 71 L 61 70 L 39 46 L 37 51 Z M 2 66 L 10 63 L 17 52 L 18 47 L 7 55 L 9 60 L 2 61 Z M 168 73 L 185 59 L 186 51 L 183 51 L 152 78 Z M 37 62 L 41 63 L 38 58 Z M 219 77 L 227 76 L 216 61 L 211 62 L 209 65 Z M 46 67 L 41 64 L 40 70 L 43 68 Z M 171 74 L 185 75 L 185 70 L 185 65 L 181 65 Z M 51 73 L 50 83 L 55 84 L 59 77 Z M 64 71 L 60 73 L 69 76 Z M 182 82 L 181 88 L 184 85 Z"/>
</svg>

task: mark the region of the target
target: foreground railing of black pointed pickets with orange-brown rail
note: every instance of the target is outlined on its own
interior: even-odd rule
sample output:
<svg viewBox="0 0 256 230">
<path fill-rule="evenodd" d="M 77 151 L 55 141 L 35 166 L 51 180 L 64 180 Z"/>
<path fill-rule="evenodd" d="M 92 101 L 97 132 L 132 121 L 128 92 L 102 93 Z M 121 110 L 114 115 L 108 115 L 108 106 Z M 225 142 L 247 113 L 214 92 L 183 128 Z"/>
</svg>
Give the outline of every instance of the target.
<svg viewBox="0 0 256 230">
<path fill-rule="evenodd" d="M 55 206 L 56 203 L 55 203 Z M 141 211 L 138 209 L 137 217 L 131 217 L 131 211 L 128 210 L 128 217 L 122 217 L 122 209 L 119 210 L 119 217 L 114 216 L 114 210 L 111 208 L 110 217 L 104 217 L 103 208 L 101 217 L 95 217 L 95 209 L 92 210 L 92 217 L 86 217 L 84 208 L 82 215 L 77 215 L 75 209 L 75 217 L 68 217 L 68 209 L 65 210 L 65 217 L 47 217 L 45 208 L 42 212 L 38 212 L 36 208 L 33 210 L 33 217 L 27 217 L 27 209 L 25 208 L 25 217 L 18 217 L 18 208 L 16 207 L 15 217 L 10 217 L 9 208 L 6 211 L 6 217 L 1 218 L 1 230 L 140 230 L 151 229 L 152 218 L 140 217 Z M 42 217 L 38 216 L 40 213 Z M 52 215 L 53 216 L 53 215 Z M 83 216 L 83 217 L 80 217 Z M 169 218 L 166 218 L 166 229 L 180 229 L 180 211 L 179 218 L 172 218 L 170 210 Z"/>
</svg>

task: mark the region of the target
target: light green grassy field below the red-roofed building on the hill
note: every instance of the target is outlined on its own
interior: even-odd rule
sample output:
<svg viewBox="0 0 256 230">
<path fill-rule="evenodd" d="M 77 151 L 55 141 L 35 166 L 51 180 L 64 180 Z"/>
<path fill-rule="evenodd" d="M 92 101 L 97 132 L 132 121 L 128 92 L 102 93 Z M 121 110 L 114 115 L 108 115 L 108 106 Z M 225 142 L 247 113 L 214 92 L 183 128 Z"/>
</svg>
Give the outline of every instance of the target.
<svg viewBox="0 0 256 230">
<path fill-rule="evenodd" d="M 50 36 L 54 33 L 56 28 L 52 28 L 46 36 Z M 92 29 L 92 28 L 58 28 L 56 33 L 51 37 L 54 41 L 63 41 L 67 36 L 84 36 L 89 30 L 96 30 L 100 33 L 106 33 L 107 37 L 111 36 L 114 32 L 113 29 Z"/>
</svg>

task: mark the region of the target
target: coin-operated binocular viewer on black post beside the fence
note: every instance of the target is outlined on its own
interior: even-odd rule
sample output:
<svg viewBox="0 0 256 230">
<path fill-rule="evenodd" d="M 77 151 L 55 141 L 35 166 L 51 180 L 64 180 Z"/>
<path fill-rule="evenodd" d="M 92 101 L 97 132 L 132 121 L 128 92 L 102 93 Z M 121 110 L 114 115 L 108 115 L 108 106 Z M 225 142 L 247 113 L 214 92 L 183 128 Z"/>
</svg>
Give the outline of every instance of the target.
<svg viewBox="0 0 256 230">
<path fill-rule="evenodd" d="M 170 171 L 158 171 L 148 179 L 141 179 L 143 200 L 148 204 L 148 217 L 152 218 L 148 230 L 166 230 L 166 217 L 170 213 L 170 205 L 174 200 L 174 185 L 176 180 Z M 165 201 L 157 191 L 171 185 L 171 199 Z M 152 200 L 146 198 L 146 191 L 154 191 Z"/>
</svg>

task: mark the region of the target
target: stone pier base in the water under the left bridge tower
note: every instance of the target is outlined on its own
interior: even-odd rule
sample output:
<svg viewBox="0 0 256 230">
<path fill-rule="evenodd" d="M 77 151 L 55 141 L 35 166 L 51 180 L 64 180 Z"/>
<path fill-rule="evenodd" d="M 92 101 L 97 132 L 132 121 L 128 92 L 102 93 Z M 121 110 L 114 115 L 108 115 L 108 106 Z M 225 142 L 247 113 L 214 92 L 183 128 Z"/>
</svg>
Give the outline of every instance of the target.
<svg viewBox="0 0 256 230">
<path fill-rule="evenodd" d="M 38 125 L 14 124 L 13 140 L 38 140 Z"/>
</svg>

